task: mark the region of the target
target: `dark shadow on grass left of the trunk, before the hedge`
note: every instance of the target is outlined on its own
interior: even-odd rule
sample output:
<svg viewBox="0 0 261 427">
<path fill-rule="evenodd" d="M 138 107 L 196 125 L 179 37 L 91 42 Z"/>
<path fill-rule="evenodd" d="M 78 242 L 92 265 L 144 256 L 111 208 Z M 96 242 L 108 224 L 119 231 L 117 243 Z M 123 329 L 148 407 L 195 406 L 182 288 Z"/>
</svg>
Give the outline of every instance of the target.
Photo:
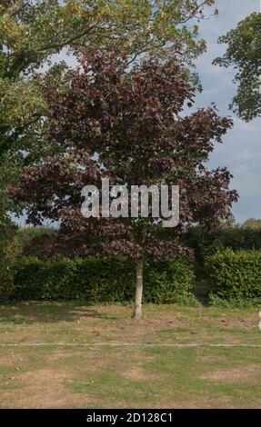
<svg viewBox="0 0 261 427">
<path fill-rule="evenodd" d="M 86 303 L 5 303 L 0 305 L 1 323 L 30 324 L 76 322 L 82 317 L 112 319 Z"/>
</svg>

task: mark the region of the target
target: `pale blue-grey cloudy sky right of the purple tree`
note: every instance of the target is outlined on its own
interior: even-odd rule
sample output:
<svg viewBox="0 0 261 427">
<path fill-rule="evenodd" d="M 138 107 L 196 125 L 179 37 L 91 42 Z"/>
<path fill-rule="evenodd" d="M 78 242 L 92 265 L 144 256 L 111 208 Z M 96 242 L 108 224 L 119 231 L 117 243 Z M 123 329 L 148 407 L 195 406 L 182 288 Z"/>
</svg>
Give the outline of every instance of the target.
<svg viewBox="0 0 261 427">
<path fill-rule="evenodd" d="M 236 222 L 247 218 L 261 218 L 261 118 L 246 123 L 228 109 L 236 94 L 232 83 L 235 71 L 212 65 L 216 56 L 222 55 L 226 45 L 218 45 L 217 39 L 253 12 L 260 11 L 259 0 L 216 0 L 219 15 L 201 22 L 200 35 L 206 40 L 206 54 L 196 61 L 197 72 L 203 84 L 203 92 L 196 97 L 196 107 L 206 107 L 214 102 L 222 115 L 230 115 L 234 127 L 216 144 L 208 167 L 227 166 L 234 175 L 231 187 L 239 193 L 239 201 L 233 206 Z"/>
</svg>

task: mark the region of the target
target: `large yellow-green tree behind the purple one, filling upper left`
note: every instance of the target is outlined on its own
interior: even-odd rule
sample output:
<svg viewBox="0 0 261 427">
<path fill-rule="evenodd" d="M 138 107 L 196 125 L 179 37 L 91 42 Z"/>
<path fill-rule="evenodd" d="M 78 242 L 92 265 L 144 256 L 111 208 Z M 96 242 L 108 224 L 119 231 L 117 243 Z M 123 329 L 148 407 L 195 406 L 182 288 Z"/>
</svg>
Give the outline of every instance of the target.
<svg viewBox="0 0 261 427">
<path fill-rule="evenodd" d="M 205 49 L 197 26 L 214 0 L 2 0 L 0 5 L 0 217 L 14 206 L 7 182 L 25 164 L 52 154 L 49 113 L 35 74 L 53 55 L 79 55 L 89 46 L 141 55 L 179 55 L 191 63 Z M 56 60 L 57 61 L 57 60 Z M 63 75 L 64 65 L 52 72 Z"/>
</svg>

